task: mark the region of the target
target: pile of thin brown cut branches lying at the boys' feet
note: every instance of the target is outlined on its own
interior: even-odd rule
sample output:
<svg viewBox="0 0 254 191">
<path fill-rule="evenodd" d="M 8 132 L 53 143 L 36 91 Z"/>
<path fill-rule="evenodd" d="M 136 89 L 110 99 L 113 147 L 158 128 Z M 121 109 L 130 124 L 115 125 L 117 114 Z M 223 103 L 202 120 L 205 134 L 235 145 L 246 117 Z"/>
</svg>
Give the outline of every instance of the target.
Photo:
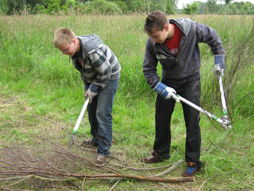
<svg viewBox="0 0 254 191">
<path fill-rule="evenodd" d="M 95 150 L 92 148 L 82 147 L 79 144 L 68 148 L 45 139 L 40 139 L 36 147 L 22 144 L 1 145 L 0 181 L 1 183 L 14 181 L 11 185 L 18 185 L 34 178 L 49 182 L 80 181 L 81 183 L 84 179 L 168 183 L 195 180 L 194 177 L 164 177 L 181 165 L 183 160 L 163 167 L 136 168 L 128 166 L 116 157 L 111 157 L 111 160 L 103 165 L 94 162 L 94 158 Z M 158 173 L 160 170 L 162 171 Z M 156 171 L 157 174 L 144 176 L 145 171 Z M 1 185 L 6 186 L 6 184 Z"/>
</svg>

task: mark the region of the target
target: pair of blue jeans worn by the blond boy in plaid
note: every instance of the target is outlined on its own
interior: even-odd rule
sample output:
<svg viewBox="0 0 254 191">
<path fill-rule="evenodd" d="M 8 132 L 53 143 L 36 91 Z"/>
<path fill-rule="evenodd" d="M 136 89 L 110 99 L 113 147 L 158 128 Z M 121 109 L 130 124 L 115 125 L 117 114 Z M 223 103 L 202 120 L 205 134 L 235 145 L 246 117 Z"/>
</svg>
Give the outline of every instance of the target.
<svg viewBox="0 0 254 191">
<path fill-rule="evenodd" d="M 112 107 L 119 80 L 110 80 L 88 105 L 88 117 L 93 141 L 98 144 L 97 153 L 110 154 L 112 144 Z"/>
</svg>

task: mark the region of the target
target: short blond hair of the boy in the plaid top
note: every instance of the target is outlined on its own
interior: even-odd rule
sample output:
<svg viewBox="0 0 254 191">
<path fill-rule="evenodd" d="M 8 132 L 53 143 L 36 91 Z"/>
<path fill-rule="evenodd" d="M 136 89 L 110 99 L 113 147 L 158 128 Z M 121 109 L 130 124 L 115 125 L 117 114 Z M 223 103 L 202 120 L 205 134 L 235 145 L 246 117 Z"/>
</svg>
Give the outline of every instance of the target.
<svg viewBox="0 0 254 191">
<path fill-rule="evenodd" d="M 75 33 L 68 28 L 59 28 L 55 31 L 53 44 L 55 47 L 70 44 L 76 37 Z"/>
</svg>

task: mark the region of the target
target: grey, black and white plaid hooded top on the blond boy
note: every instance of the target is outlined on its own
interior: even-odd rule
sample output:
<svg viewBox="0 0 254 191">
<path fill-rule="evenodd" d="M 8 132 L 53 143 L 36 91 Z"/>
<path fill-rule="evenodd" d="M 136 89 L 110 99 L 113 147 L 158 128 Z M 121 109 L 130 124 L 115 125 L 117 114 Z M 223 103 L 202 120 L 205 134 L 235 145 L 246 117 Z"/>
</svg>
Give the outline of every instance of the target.
<svg viewBox="0 0 254 191">
<path fill-rule="evenodd" d="M 94 35 L 95 39 L 89 41 L 93 44 L 87 49 L 86 36 L 79 36 L 80 51 L 72 57 L 74 67 L 79 70 L 81 79 L 85 84 L 91 84 L 89 90 L 94 94 L 98 93 L 100 88 L 104 88 L 109 80 L 119 79 L 121 66 L 117 57 L 111 49 L 103 44 L 99 37 Z M 94 43 L 94 41 L 96 41 Z"/>
</svg>

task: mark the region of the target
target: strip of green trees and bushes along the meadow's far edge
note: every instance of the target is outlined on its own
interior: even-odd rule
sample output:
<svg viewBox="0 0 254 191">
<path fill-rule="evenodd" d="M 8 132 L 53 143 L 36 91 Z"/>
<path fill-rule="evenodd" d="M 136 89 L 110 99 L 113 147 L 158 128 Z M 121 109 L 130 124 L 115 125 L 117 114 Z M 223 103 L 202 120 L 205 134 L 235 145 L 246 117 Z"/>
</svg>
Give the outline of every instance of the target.
<svg viewBox="0 0 254 191">
<path fill-rule="evenodd" d="M 206 3 L 195 1 L 182 10 L 185 14 L 243 14 L 253 15 L 254 4 L 250 2 L 233 2 L 223 0 L 208 0 Z M 71 12 L 119 14 L 119 13 L 149 13 L 161 10 L 167 14 L 177 12 L 177 0 L 1 0 L 0 14 L 68 14 Z M 105 7 L 103 7 L 103 6 Z M 95 7 L 98 6 L 98 9 Z M 179 12 L 179 10 L 178 10 Z"/>
</svg>

